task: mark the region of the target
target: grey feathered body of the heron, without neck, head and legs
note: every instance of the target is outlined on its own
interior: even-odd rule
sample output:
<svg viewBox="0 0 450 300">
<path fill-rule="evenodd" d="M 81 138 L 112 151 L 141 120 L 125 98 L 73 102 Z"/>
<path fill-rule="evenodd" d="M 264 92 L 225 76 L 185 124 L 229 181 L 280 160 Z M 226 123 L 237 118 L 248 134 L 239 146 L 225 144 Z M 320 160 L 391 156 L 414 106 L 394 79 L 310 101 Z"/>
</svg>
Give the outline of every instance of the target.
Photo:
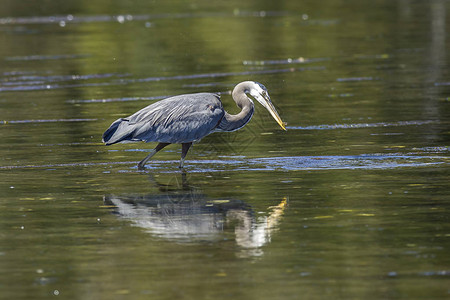
<svg viewBox="0 0 450 300">
<path fill-rule="evenodd" d="M 217 94 L 174 96 L 116 120 L 103 134 L 103 141 L 107 145 L 125 141 L 188 143 L 211 133 L 223 116 Z"/>
</svg>

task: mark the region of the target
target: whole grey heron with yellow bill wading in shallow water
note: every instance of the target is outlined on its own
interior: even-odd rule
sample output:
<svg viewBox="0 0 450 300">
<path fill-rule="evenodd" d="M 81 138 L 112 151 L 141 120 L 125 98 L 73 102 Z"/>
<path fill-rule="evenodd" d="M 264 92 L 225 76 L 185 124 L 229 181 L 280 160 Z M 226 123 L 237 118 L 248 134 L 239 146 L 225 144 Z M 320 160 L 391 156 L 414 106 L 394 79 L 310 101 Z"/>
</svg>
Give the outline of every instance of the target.
<svg viewBox="0 0 450 300">
<path fill-rule="evenodd" d="M 114 121 L 103 133 L 103 142 L 112 145 L 121 142 L 159 142 L 138 164 L 143 170 L 147 161 L 170 144 L 181 144 L 180 168 L 183 168 L 192 143 L 213 132 L 235 131 L 250 121 L 254 104 L 249 93 L 264 106 L 283 130 L 285 124 L 270 101 L 264 85 L 244 81 L 233 89 L 232 97 L 242 110 L 236 115 L 226 112 L 220 96 L 213 93 L 186 94 L 153 103 L 127 118 Z"/>
</svg>

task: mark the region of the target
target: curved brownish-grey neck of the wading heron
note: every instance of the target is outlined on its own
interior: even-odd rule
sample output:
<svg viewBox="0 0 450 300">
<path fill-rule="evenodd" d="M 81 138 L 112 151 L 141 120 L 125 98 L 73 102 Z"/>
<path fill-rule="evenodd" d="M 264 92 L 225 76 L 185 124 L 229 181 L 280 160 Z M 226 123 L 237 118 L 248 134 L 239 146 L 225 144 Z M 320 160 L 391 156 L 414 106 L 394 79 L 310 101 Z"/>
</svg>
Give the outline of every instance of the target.
<svg viewBox="0 0 450 300">
<path fill-rule="evenodd" d="M 250 121 L 253 116 L 255 105 L 245 94 L 248 91 L 249 88 L 247 81 L 239 83 L 233 89 L 233 93 L 231 94 L 231 96 L 233 97 L 234 102 L 236 102 L 236 105 L 242 110 L 236 115 L 225 112 L 225 115 L 223 116 L 219 126 L 217 127 L 219 130 L 235 131 L 244 127 L 245 124 Z"/>
</svg>

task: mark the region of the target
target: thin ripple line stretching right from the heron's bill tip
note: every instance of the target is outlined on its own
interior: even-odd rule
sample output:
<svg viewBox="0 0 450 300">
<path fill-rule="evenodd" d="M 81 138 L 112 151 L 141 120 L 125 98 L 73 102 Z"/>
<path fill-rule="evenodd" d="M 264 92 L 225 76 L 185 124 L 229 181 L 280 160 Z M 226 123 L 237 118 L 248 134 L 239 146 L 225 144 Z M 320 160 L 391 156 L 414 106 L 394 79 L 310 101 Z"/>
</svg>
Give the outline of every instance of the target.
<svg viewBox="0 0 450 300">
<path fill-rule="evenodd" d="M 313 126 L 287 126 L 287 129 L 294 130 L 334 130 L 334 129 L 355 129 L 374 127 L 399 127 L 399 126 L 421 126 L 429 124 L 439 124 L 434 120 L 398 121 L 398 122 L 378 122 L 378 123 L 357 123 L 357 124 L 333 124 L 333 125 L 313 125 Z"/>
</svg>

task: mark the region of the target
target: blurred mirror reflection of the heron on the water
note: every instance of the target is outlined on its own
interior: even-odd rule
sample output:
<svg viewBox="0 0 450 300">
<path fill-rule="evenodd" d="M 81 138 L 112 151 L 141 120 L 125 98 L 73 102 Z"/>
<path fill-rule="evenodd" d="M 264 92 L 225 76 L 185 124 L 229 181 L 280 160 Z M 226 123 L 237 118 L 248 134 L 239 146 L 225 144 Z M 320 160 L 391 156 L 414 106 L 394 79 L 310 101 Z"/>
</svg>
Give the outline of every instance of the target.
<svg viewBox="0 0 450 300">
<path fill-rule="evenodd" d="M 287 198 L 266 212 L 255 212 L 238 199 L 213 199 L 198 187 L 189 185 L 183 173 L 181 184 L 162 185 L 152 176 L 150 181 L 159 191 L 151 194 L 105 195 L 121 219 L 130 221 L 152 236 L 180 243 L 208 243 L 233 239 L 238 256 L 260 256 L 262 247 L 271 241 L 278 229 Z"/>
</svg>

